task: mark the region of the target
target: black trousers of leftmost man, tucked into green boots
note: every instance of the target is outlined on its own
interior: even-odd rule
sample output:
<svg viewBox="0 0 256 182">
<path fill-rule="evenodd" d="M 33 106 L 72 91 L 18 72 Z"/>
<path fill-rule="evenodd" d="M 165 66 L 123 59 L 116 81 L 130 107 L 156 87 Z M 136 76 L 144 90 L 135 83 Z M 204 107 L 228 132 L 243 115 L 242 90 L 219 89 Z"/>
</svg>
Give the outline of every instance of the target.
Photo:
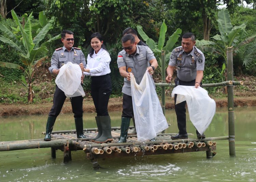
<svg viewBox="0 0 256 182">
<path fill-rule="evenodd" d="M 59 115 L 66 98 L 67 97 L 65 93 L 62 90 L 60 90 L 59 87 L 56 85 L 56 89 L 53 96 L 53 107 L 49 112 L 49 116 L 57 117 Z M 71 97 L 70 101 L 74 117 L 83 117 L 83 97 Z"/>
</svg>

